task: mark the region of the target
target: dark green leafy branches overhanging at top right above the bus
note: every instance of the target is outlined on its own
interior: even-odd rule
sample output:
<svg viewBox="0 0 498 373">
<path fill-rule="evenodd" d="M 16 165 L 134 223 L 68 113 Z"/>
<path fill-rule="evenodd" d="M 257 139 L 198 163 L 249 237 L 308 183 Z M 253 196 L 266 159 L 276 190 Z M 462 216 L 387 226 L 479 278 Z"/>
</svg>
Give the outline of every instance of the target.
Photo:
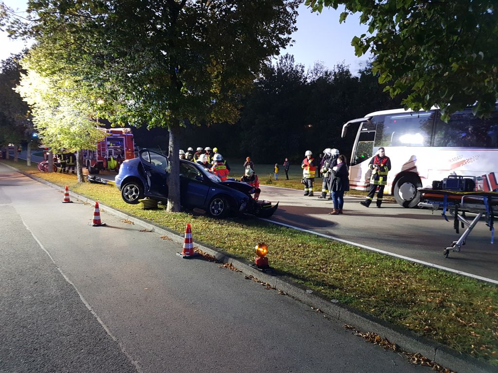
<svg viewBox="0 0 498 373">
<path fill-rule="evenodd" d="M 414 110 L 437 105 L 443 119 L 476 103 L 482 116 L 498 98 L 497 2 L 476 0 L 306 0 L 313 10 L 345 6 L 340 22 L 360 12 L 368 34 L 356 55 L 372 53 L 373 72 L 391 96 Z"/>
</svg>

